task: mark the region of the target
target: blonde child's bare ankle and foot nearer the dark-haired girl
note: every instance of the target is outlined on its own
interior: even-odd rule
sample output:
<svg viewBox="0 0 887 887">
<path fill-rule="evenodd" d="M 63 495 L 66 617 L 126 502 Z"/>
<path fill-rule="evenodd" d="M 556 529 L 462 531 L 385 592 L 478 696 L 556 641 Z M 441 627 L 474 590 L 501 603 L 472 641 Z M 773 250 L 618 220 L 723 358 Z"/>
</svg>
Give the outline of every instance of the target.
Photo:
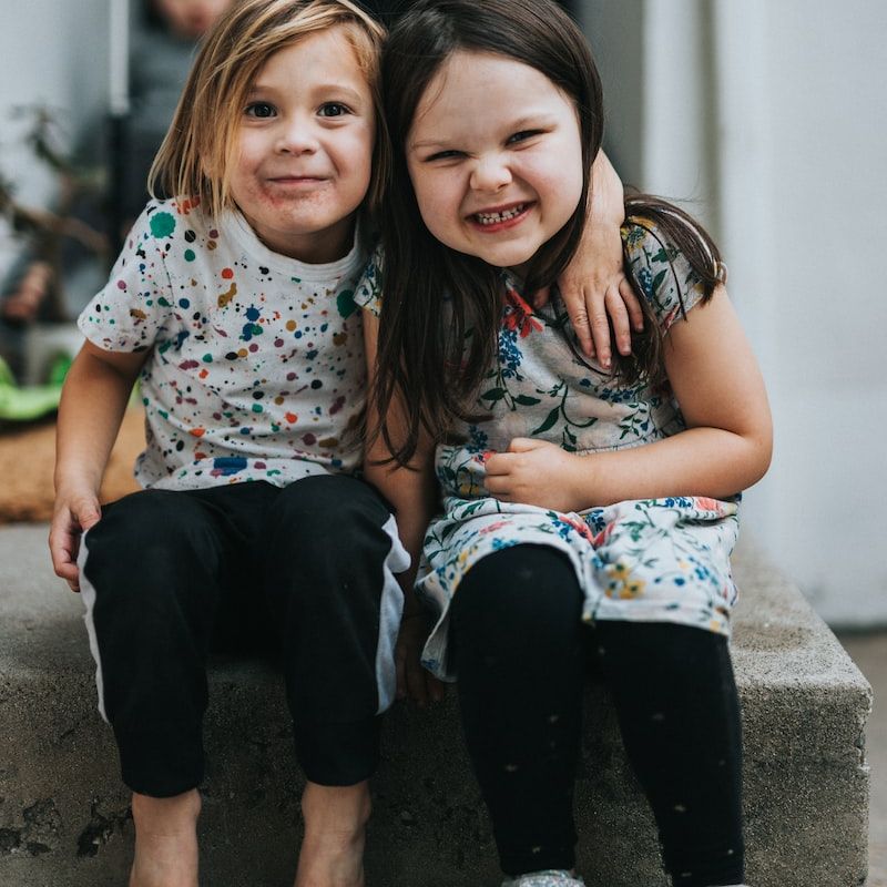
<svg viewBox="0 0 887 887">
<path fill-rule="evenodd" d="M 369 783 L 307 783 L 302 795 L 305 838 L 295 887 L 364 887 Z"/>
</svg>

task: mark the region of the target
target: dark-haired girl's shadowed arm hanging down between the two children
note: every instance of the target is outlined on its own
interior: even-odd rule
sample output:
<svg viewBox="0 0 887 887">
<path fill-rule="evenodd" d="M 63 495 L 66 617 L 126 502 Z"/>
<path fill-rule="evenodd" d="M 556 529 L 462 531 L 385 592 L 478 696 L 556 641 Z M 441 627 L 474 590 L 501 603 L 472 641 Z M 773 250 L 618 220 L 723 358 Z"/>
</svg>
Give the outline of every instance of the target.
<svg viewBox="0 0 887 887">
<path fill-rule="evenodd" d="M 369 310 L 364 312 L 364 343 L 367 354 L 368 389 L 373 390 L 376 367 L 379 322 Z M 397 407 L 395 407 L 397 409 Z M 381 436 L 375 437 L 379 416 L 371 402 L 367 404 L 367 439 L 373 443 L 365 453 L 366 479 L 390 502 L 397 519 L 400 541 L 409 553 L 410 565 L 398 580 L 404 591 L 404 616 L 395 651 L 397 666 L 397 695 L 412 697 L 419 704 L 427 700 L 439 700 L 442 684 L 422 669 L 419 661 L 422 645 L 428 638 L 426 613 L 412 590 L 425 531 L 437 503 L 437 482 L 434 472 L 434 447 L 430 441 L 420 441 L 419 449 L 409 468 L 397 462 L 385 462 L 390 451 Z M 391 434 L 397 434 L 397 417 L 388 417 Z M 374 440 L 375 437 L 375 440 Z M 379 463 L 379 462 L 384 463 Z"/>
</svg>

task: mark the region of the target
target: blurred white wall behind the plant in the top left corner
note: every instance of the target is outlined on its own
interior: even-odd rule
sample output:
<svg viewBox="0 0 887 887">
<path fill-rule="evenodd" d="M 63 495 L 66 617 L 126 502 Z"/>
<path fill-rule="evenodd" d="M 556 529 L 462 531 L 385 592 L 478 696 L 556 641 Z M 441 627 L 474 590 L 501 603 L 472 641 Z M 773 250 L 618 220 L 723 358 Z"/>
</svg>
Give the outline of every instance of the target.
<svg viewBox="0 0 887 887">
<path fill-rule="evenodd" d="M 17 196 L 45 205 L 52 176 L 21 143 L 23 121 L 14 108 L 35 103 L 57 112 L 63 142 L 102 113 L 108 94 L 108 10 L 111 0 L 28 0 L 4 9 L 0 28 L 0 175 L 16 184 Z M 12 0 L 4 0 L 11 7 Z M 0 222 L 0 272 L 17 249 Z"/>
</svg>

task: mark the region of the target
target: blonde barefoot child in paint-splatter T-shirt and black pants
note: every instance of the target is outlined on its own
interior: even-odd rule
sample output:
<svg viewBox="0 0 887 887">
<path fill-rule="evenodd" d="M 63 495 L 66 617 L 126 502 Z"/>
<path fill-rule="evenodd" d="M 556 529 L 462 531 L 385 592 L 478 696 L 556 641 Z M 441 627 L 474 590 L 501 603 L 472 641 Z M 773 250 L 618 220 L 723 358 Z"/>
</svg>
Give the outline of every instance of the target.
<svg viewBox="0 0 887 887">
<path fill-rule="evenodd" d="M 279 656 L 306 775 L 297 885 L 363 883 L 406 567 L 356 477 L 364 222 L 384 32 L 347 0 L 242 0 L 210 32 L 59 415 L 55 571 L 80 589 L 132 789 L 131 887 L 197 885 L 212 649 Z M 100 507 L 135 379 L 144 490 Z M 347 557 L 343 553 L 347 552 Z"/>
</svg>

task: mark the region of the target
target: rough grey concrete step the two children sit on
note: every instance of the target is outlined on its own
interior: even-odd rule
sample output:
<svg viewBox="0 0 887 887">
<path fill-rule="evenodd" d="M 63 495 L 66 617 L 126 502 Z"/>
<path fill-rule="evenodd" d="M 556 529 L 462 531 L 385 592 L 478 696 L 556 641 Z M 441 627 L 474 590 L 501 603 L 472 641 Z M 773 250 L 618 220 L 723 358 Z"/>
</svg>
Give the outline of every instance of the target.
<svg viewBox="0 0 887 887">
<path fill-rule="evenodd" d="M 47 528 L 0 529 L 0 886 L 120 887 L 133 829 L 110 728 L 95 708 L 81 604 L 55 579 Z M 733 642 L 743 704 L 747 880 L 754 887 L 865 883 L 868 683 L 801 593 L 754 551 Z M 302 782 L 278 677 L 216 662 L 202 884 L 293 881 Z M 580 867 L 590 887 L 664 887 L 655 830 L 613 710 L 589 687 L 578 786 Z M 452 695 L 386 718 L 374 783 L 369 887 L 498 884 L 490 827 Z"/>
</svg>

